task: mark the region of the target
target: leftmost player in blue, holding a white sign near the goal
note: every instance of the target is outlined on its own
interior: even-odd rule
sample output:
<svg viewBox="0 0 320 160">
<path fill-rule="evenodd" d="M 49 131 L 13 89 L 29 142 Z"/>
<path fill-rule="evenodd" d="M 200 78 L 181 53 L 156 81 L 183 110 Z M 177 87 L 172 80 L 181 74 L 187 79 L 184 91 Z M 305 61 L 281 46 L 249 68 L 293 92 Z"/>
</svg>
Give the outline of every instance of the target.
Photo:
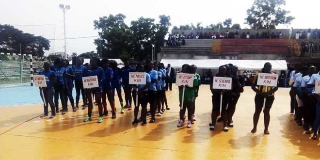
<svg viewBox="0 0 320 160">
<path fill-rule="evenodd" d="M 40 116 L 40 118 L 48 116 L 48 104 L 51 108 L 51 116 L 49 118 L 54 118 L 56 116 L 56 110 L 53 103 L 53 96 L 54 96 L 54 88 L 53 85 L 57 82 L 56 73 L 50 70 L 50 63 L 45 62 L 43 64 L 43 68 L 45 70 L 40 71 L 39 75 L 45 75 L 47 87 L 39 87 L 40 88 L 40 96 L 42 99 L 46 100 L 46 104 L 43 105 L 44 107 L 44 114 Z M 44 97 L 42 96 L 41 90 L 43 90 Z"/>
</svg>

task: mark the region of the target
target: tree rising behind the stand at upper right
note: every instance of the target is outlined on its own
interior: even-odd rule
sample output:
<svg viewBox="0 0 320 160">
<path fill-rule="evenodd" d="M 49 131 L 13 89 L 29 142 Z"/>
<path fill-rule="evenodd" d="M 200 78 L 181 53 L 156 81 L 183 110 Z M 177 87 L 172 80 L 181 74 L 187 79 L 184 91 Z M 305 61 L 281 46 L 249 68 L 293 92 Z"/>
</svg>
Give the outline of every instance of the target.
<svg viewBox="0 0 320 160">
<path fill-rule="evenodd" d="M 286 5 L 285 0 L 255 0 L 247 10 L 245 23 L 252 29 L 275 29 L 279 24 L 290 24 L 295 18 L 287 16 L 290 12 L 281 9 L 282 5 Z"/>
</svg>

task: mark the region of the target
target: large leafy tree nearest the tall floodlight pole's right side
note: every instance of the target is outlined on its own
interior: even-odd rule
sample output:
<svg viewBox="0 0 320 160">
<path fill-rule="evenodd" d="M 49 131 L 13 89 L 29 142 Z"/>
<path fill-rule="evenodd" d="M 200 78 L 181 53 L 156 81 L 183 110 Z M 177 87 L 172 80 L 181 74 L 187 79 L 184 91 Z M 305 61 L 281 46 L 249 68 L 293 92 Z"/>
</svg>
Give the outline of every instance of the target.
<svg viewBox="0 0 320 160">
<path fill-rule="evenodd" d="M 95 39 L 94 43 L 102 57 L 122 58 L 123 54 L 131 52 L 132 33 L 124 22 L 125 18 L 123 14 L 117 14 L 99 17 L 99 20 L 94 21 L 95 29 L 100 30 L 98 34 L 101 37 Z"/>
</svg>

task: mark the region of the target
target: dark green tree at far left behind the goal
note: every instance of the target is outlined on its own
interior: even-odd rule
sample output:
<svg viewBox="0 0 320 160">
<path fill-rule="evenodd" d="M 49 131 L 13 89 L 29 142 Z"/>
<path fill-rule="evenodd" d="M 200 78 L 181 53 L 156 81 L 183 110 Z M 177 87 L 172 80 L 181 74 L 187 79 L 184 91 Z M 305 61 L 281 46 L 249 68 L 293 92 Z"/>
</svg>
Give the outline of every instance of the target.
<svg viewBox="0 0 320 160">
<path fill-rule="evenodd" d="M 0 25 L 0 52 L 32 54 L 42 57 L 50 42 L 42 36 L 24 33 L 10 25 Z"/>
</svg>

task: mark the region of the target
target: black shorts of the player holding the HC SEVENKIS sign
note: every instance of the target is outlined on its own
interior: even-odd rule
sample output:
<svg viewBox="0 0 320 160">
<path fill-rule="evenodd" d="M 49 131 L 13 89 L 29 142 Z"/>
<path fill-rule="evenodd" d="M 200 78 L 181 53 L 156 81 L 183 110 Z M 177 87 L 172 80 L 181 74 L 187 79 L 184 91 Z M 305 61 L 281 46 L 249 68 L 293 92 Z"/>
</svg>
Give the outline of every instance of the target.
<svg viewBox="0 0 320 160">
<path fill-rule="evenodd" d="M 212 95 L 212 111 L 220 112 L 220 94 Z M 231 94 L 224 94 L 222 97 L 222 110 L 228 110 L 232 100 Z"/>
</svg>

